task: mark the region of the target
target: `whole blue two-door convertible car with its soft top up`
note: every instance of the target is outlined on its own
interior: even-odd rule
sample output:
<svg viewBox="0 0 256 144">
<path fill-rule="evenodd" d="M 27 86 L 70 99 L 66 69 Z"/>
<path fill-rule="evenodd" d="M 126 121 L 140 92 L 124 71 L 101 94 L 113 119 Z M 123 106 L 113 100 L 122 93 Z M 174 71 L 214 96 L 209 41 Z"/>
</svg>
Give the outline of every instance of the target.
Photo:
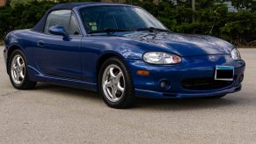
<svg viewBox="0 0 256 144">
<path fill-rule="evenodd" d="M 94 90 L 114 108 L 136 97 L 223 97 L 241 90 L 244 79 L 245 61 L 230 43 L 169 32 L 127 4 L 57 4 L 4 43 L 16 89 L 47 82 Z"/>
</svg>

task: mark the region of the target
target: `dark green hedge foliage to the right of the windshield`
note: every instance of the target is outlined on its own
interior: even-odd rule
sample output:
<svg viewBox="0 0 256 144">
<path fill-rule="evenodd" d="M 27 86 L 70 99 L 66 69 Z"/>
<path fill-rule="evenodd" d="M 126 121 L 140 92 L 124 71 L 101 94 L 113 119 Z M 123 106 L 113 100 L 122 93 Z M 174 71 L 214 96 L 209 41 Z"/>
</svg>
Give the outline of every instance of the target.
<svg viewBox="0 0 256 144">
<path fill-rule="evenodd" d="M 178 0 L 162 1 L 157 4 L 150 2 L 128 1 L 150 11 L 172 32 L 185 32 L 213 35 L 218 38 L 229 40 L 234 44 L 247 45 L 248 42 L 256 40 L 256 4 L 247 4 L 245 1 L 236 1 L 234 4 L 244 5 L 238 8 L 238 12 L 228 11 L 223 0 L 196 0 L 196 11 L 192 11 L 191 1 Z M 249 2 L 249 1 L 248 1 Z M 255 1 L 250 1 L 254 3 Z M 193 13 L 195 22 L 192 22 Z"/>
</svg>

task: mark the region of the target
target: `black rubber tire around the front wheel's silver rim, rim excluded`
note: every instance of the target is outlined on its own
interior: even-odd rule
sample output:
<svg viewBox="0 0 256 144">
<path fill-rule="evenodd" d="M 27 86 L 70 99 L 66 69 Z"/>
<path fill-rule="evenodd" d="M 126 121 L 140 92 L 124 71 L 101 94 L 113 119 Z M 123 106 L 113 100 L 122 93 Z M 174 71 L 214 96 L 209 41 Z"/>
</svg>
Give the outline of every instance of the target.
<svg viewBox="0 0 256 144">
<path fill-rule="evenodd" d="M 123 79 L 125 83 L 125 89 L 124 89 L 123 95 L 121 96 L 121 99 L 118 100 L 117 102 L 110 101 L 106 97 L 106 94 L 103 90 L 104 89 L 103 83 L 102 83 L 103 75 L 106 68 L 111 65 L 116 65 L 119 68 L 121 68 L 121 72 L 123 74 Z M 124 62 L 121 61 L 121 59 L 119 59 L 118 57 L 110 58 L 102 64 L 99 70 L 99 93 L 101 97 L 103 97 L 104 102 L 110 107 L 117 108 L 117 109 L 124 109 L 124 108 L 128 108 L 135 105 L 136 98 L 135 98 L 135 88 L 133 84 L 133 78 L 129 73 L 128 68 L 125 66 Z"/>
</svg>

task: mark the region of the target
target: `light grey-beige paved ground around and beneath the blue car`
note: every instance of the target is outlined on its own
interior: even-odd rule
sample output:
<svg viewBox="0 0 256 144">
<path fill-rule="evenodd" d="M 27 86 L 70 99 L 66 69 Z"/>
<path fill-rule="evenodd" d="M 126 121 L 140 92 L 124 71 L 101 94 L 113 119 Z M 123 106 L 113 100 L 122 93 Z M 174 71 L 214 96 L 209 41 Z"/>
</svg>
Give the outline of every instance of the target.
<svg viewBox="0 0 256 144">
<path fill-rule="evenodd" d="M 3 47 L 0 47 L 3 49 Z M 0 143 L 255 143 L 256 49 L 241 92 L 222 99 L 140 99 L 111 109 L 97 93 L 40 83 L 15 90 L 0 56 Z"/>
</svg>

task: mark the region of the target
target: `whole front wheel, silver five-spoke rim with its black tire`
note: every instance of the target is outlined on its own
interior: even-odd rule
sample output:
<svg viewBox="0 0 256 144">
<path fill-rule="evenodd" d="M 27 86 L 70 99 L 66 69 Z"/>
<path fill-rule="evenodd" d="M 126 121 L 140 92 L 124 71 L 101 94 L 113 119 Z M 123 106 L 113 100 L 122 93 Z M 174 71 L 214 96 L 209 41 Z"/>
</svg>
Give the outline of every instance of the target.
<svg viewBox="0 0 256 144">
<path fill-rule="evenodd" d="M 121 109 L 135 104 L 132 76 L 119 58 L 106 60 L 100 68 L 99 92 L 110 107 Z"/>
</svg>

